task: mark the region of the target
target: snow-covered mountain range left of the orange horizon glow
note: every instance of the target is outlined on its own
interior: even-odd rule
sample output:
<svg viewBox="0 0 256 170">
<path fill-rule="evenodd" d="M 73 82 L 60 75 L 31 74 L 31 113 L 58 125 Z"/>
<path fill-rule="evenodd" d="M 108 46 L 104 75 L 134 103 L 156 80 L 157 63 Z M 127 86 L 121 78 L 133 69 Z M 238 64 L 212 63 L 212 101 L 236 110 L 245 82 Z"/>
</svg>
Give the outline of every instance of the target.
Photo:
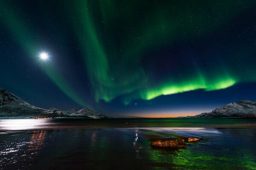
<svg viewBox="0 0 256 170">
<path fill-rule="evenodd" d="M 79 112 L 81 111 L 81 112 Z M 111 118 L 88 108 L 77 111 L 70 109 L 67 112 L 59 109 L 42 109 L 32 106 L 16 95 L 0 88 L 0 118 Z"/>
</svg>

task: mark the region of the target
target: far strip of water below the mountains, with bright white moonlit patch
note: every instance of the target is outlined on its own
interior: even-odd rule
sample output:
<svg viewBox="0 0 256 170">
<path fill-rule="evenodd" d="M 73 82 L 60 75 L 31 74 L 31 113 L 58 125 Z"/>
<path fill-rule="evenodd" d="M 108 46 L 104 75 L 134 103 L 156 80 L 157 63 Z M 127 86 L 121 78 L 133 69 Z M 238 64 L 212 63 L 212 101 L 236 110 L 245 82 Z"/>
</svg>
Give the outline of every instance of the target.
<svg viewBox="0 0 256 170">
<path fill-rule="evenodd" d="M 87 129 L 130 127 L 256 127 L 256 119 L 229 118 L 110 118 L 0 119 L 0 130 Z"/>
</svg>

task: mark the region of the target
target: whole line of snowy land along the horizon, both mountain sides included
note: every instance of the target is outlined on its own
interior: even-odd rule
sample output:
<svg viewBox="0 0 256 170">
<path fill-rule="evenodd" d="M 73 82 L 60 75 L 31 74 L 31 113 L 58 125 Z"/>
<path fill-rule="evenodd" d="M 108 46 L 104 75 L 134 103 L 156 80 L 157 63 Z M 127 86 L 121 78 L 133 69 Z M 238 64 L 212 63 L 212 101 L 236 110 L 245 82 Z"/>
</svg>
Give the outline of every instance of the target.
<svg viewBox="0 0 256 170">
<path fill-rule="evenodd" d="M 50 108 L 42 109 L 26 103 L 16 95 L 0 88 L 0 118 L 113 118 L 88 108 L 81 110 Z M 116 116 L 115 118 L 143 118 L 141 116 Z M 241 100 L 216 108 L 212 112 L 204 112 L 194 116 L 179 116 L 176 118 L 256 118 L 256 102 Z"/>
</svg>

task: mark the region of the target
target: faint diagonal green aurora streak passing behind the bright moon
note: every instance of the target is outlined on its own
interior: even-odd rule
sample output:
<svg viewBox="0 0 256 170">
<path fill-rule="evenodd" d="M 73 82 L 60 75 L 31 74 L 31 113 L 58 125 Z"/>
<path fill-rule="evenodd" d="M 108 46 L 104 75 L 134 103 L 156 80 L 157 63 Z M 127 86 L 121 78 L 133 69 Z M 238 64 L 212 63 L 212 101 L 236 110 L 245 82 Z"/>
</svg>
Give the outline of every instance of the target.
<svg viewBox="0 0 256 170">
<path fill-rule="evenodd" d="M 29 28 L 29 24 L 23 24 L 20 22 L 20 17 L 17 17 L 8 6 L 0 5 L 0 11 L 4 12 L 3 17 L 1 17 L 0 22 L 2 22 L 8 29 L 12 30 L 13 35 L 17 38 L 20 45 L 32 58 L 38 60 L 39 49 L 35 48 L 35 40 L 31 40 L 32 29 Z M 69 98 L 71 98 L 76 103 L 80 104 L 82 107 L 90 107 L 90 105 L 81 98 L 77 92 L 70 86 L 68 81 L 61 75 L 58 68 L 53 63 L 41 63 L 40 68 L 44 73 L 54 82 L 58 88 L 64 92 Z"/>
</svg>

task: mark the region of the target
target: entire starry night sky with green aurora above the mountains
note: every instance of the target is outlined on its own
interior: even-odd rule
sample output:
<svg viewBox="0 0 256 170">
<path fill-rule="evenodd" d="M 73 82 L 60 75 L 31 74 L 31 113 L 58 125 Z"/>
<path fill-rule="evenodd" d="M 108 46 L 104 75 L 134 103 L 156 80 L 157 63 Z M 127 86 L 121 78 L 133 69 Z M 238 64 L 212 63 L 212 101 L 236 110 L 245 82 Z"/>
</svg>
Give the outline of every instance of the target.
<svg viewBox="0 0 256 170">
<path fill-rule="evenodd" d="M 0 87 L 117 117 L 256 101 L 256 1 L 0 1 Z"/>
</svg>

